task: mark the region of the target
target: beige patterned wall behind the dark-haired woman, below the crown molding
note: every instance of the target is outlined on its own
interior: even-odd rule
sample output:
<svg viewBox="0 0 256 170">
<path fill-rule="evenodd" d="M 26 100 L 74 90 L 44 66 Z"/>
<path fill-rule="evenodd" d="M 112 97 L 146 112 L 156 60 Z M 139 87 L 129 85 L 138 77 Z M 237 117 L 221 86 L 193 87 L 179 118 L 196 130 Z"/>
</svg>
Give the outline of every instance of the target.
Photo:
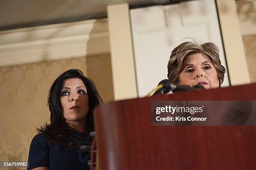
<svg viewBox="0 0 256 170">
<path fill-rule="evenodd" d="M 87 66 L 87 62 L 89 63 Z M 47 94 L 61 73 L 78 68 L 99 84 L 102 98 L 113 100 L 110 55 L 0 67 L 0 160 L 26 161 L 35 127 L 49 122 Z M 90 68 L 90 71 L 87 69 Z M 101 78 L 103 77 L 103 78 Z M 7 169 L 7 168 L 1 168 Z M 15 168 L 9 168 L 15 170 Z M 20 168 L 26 169 L 26 168 Z"/>
</svg>

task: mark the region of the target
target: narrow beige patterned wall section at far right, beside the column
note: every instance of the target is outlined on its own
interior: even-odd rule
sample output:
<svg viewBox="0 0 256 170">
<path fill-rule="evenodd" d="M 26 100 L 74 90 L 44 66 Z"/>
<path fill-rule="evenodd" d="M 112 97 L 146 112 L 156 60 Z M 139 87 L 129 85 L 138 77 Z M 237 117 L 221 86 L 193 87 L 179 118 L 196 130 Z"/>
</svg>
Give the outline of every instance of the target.
<svg viewBox="0 0 256 170">
<path fill-rule="evenodd" d="M 251 83 L 256 83 L 256 35 L 243 36 Z"/>
</svg>

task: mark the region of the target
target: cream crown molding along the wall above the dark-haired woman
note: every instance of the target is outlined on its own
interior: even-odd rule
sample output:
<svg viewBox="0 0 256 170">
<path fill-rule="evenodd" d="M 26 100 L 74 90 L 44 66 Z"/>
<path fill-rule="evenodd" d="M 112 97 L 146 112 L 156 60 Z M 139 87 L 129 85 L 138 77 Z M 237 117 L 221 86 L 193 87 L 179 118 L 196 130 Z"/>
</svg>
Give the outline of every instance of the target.
<svg viewBox="0 0 256 170">
<path fill-rule="evenodd" d="M 0 31 L 0 66 L 109 52 L 107 19 Z"/>
</svg>

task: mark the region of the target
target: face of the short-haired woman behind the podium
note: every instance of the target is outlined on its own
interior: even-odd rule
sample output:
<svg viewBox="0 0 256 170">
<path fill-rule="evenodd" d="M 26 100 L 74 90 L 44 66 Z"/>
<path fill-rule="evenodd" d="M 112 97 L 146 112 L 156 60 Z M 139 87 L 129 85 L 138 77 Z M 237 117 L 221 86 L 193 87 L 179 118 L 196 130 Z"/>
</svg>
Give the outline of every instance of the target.
<svg viewBox="0 0 256 170">
<path fill-rule="evenodd" d="M 179 81 L 180 84 L 189 86 L 201 85 L 205 89 L 217 88 L 219 84 L 214 65 L 202 53 L 192 54 L 186 59 Z"/>
</svg>

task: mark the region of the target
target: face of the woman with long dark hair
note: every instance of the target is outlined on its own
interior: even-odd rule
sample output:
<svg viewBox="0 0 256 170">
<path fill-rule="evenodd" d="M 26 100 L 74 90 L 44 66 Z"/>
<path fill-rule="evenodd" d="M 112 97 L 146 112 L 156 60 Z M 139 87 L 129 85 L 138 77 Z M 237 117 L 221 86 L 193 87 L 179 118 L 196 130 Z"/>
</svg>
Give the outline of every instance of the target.
<svg viewBox="0 0 256 170">
<path fill-rule="evenodd" d="M 85 121 L 89 110 L 89 99 L 81 79 L 67 79 L 63 82 L 60 101 L 68 124 Z"/>
</svg>

